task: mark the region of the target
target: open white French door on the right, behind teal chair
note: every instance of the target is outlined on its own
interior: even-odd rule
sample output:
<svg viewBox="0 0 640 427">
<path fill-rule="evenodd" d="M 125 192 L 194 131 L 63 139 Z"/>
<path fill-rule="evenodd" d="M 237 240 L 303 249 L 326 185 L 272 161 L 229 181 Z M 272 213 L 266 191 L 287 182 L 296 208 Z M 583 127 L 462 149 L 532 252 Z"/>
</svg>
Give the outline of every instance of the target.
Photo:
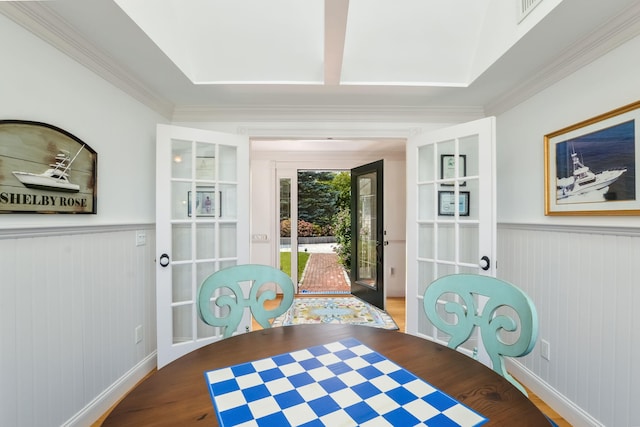
<svg viewBox="0 0 640 427">
<path fill-rule="evenodd" d="M 494 147 L 493 117 L 408 141 L 406 324 L 410 334 L 441 341 L 442 335 L 423 309 L 425 289 L 433 280 L 454 273 L 495 276 Z M 469 352 L 477 347 L 481 344 L 476 340 L 466 343 Z"/>
</svg>

